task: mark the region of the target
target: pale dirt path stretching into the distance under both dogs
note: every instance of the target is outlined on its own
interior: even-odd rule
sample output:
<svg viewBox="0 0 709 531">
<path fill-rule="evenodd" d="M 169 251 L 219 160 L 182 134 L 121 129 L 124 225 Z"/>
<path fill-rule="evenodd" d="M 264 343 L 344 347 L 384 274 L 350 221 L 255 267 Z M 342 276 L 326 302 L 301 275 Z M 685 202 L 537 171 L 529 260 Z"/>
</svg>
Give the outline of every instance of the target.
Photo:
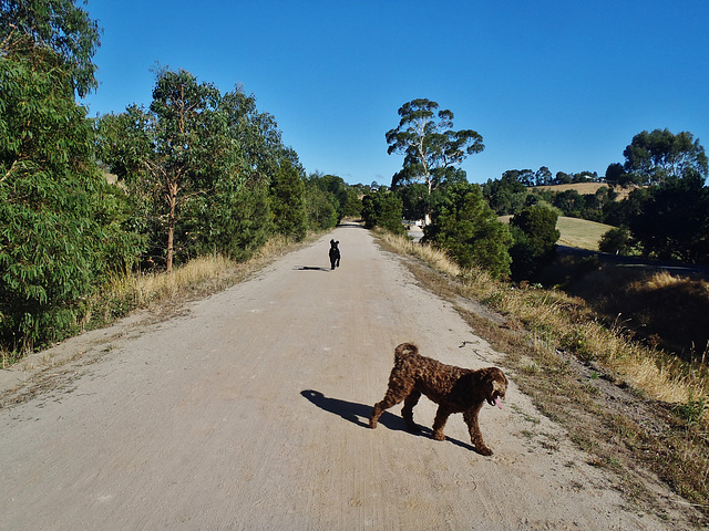
<svg viewBox="0 0 709 531">
<path fill-rule="evenodd" d="M 491 458 L 460 415 L 444 442 L 407 433 L 399 406 L 369 429 L 397 344 L 473 368 L 501 356 L 361 228 L 127 330 L 68 387 L 0 412 L 0 529 L 685 529 L 628 509 L 514 375 L 504 409 L 481 413 Z M 434 406 L 414 414 L 430 427 Z"/>
</svg>

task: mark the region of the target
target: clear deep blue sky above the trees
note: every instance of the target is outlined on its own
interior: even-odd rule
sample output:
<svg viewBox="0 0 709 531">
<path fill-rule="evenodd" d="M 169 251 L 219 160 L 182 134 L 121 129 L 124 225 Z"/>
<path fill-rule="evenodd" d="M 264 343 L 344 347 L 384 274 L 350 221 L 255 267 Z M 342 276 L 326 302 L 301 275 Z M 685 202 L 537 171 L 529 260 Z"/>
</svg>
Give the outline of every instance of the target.
<svg viewBox="0 0 709 531">
<path fill-rule="evenodd" d="M 273 114 L 308 174 L 389 185 L 384 133 L 425 97 L 483 136 L 471 183 L 598 171 L 641 131 L 709 149 L 709 1 L 90 0 L 91 115 L 151 103 L 160 62 Z"/>
</svg>

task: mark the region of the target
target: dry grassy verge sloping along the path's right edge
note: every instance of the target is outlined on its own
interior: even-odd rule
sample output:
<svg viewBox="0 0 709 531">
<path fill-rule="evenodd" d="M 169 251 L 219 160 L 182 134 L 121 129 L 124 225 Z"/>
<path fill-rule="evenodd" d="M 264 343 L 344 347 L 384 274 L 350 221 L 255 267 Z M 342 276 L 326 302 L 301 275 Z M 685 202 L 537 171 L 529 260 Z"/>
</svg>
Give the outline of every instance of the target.
<svg viewBox="0 0 709 531">
<path fill-rule="evenodd" d="M 379 242 L 414 258 L 407 263 L 418 281 L 505 353 L 522 392 L 565 427 L 592 465 L 619 478 L 626 499 L 664 516 L 662 502 L 646 488 L 653 473 L 687 500 L 692 523 L 709 524 L 706 365 L 643 345 L 619 325 L 605 326 L 582 299 L 460 270 L 444 253 L 404 237 L 383 233 Z"/>
</svg>

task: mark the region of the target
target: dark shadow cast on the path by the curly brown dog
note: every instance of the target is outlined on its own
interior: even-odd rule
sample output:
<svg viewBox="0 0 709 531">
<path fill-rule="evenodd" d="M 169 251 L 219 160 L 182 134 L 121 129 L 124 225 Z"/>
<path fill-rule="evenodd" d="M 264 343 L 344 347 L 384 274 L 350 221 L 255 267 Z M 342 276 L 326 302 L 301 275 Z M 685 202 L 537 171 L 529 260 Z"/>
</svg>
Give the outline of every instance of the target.
<svg viewBox="0 0 709 531">
<path fill-rule="evenodd" d="M 339 398 L 329 398 L 319 391 L 306 389 L 300 392 L 300 394 L 305 398 L 310 400 L 314 405 L 318 406 L 320 409 L 338 415 L 345 420 L 349 420 L 357 426 L 369 429 L 369 416 L 372 413 L 372 406 L 366 404 L 357 404 L 354 402 L 341 400 Z M 420 426 L 421 429 L 419 431 L 409 431 L 405 423 L 403 421 L 403 418 L 389 412 L 384 412 L 381 414 L 381 417 L 379 417 L 379 424 L 386 426 L 388 429 L 394 431 L 407 431 L 419 437 L 427 437 L 430 439 L 433 436 L 433 430 L 431 428 L 427 428 L 425 426 Z M 466 448 L 474 451 L 474 448 L 472 446 L 453 439 L 452 437 L 446 436 L 445 440 L 454 444 L 455 446 L 460 446 L 461 448 Z"/>
</svg>

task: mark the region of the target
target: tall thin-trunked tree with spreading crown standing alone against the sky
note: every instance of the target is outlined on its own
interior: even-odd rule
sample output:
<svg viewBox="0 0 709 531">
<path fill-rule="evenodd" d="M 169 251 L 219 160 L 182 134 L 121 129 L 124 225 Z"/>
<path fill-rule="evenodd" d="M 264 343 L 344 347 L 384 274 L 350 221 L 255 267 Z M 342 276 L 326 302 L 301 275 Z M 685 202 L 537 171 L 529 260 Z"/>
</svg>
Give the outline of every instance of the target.
<svg viewBox="0 0 709 531">
<path fill-rule="evenodd" d="M 403 169 L 392 188 L 403 183 L 427 185 L 429 194 L 469 155 L 484 149 L 483 137 L 473 129 L 453 129 L 453 113 L 438 111 L 439 104 L 420 98 L 399 108 L 399 126 L 387 132 L 388 153 L 404 155 Z M 438 111 L 438 113 L 436 113 Z"/>
</svg>

